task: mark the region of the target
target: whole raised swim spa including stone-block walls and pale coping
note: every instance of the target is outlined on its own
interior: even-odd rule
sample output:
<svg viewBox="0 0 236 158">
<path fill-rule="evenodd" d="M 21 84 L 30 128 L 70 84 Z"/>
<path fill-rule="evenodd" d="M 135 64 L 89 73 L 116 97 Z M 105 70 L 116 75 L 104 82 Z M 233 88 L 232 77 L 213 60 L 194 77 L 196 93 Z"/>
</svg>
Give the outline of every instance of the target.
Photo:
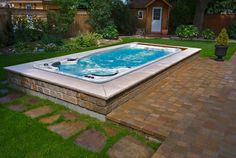
<svg viewBox="0 0 236 158">
<path fill-rule="evenodd" d="M 129 43 L 5 69 L 18 90 L 104 120 L 117 106 L 195 60 L 199 51 Z"/>
</svg>

